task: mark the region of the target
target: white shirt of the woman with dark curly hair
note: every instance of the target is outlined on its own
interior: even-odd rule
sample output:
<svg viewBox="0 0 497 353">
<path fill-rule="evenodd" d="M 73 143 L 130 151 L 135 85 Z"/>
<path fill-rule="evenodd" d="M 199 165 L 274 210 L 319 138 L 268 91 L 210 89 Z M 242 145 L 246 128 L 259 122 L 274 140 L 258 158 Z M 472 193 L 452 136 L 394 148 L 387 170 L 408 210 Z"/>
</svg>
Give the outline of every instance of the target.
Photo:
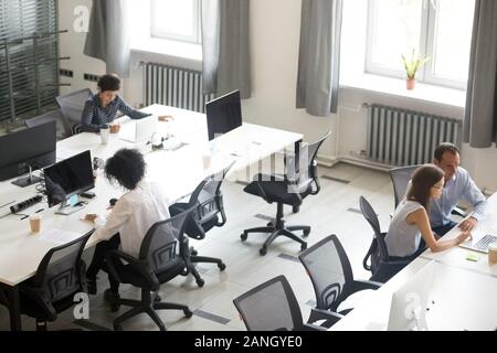
<svg viewBox="0 0 497 353">
<path fill-rule="evenodd" d="M 109 239 L 119 233 L 123 252 L 138 258 L 148 229 L 155 223 L 168 218 L 168 200 L 161 189 L 142 180 L 136 189 L 128 191 L 116 202 L 107 221 L 102 217 L 95 221 L 94 236 Z"/>
</svg>

